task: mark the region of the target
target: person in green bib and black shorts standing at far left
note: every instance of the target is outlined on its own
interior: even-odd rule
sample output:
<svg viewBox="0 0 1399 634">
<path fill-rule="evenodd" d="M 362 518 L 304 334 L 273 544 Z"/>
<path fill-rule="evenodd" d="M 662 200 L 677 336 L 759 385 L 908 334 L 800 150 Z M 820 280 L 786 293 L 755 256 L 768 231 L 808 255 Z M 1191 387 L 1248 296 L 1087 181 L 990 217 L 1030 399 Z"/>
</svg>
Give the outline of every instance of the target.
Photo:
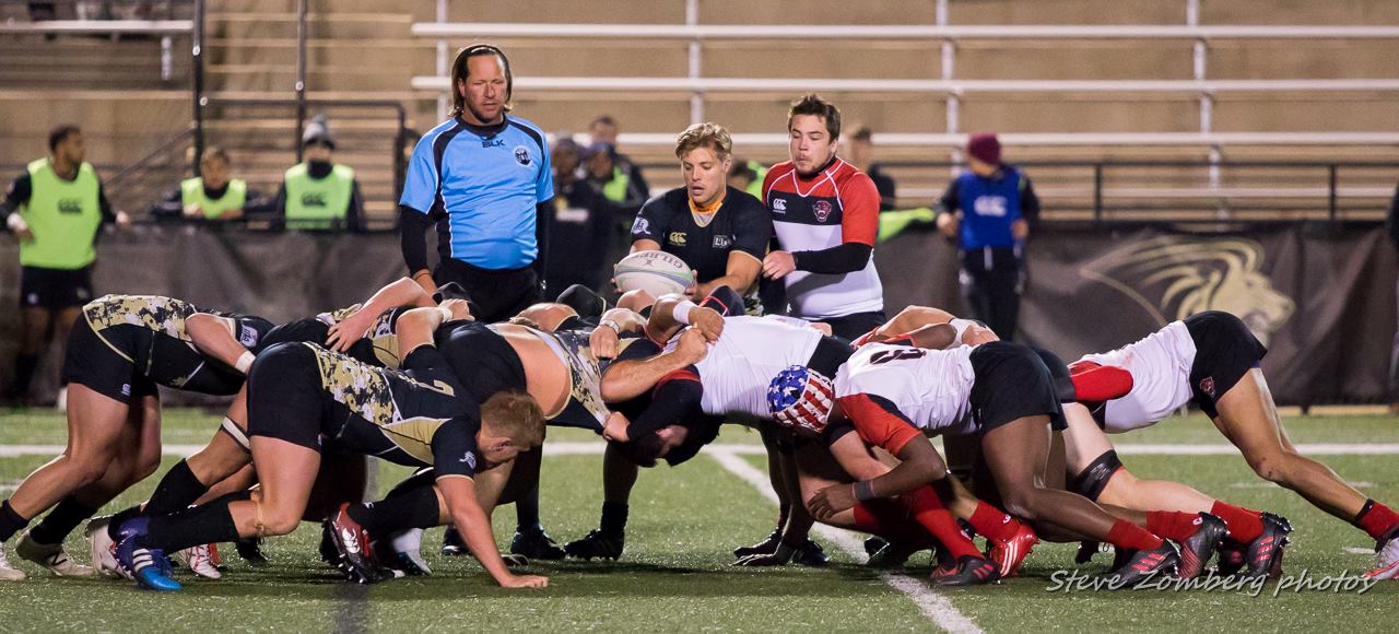
<svg viewBox="0 0 1399 634">
<path fill-rule="evenodd" d="M 28 402 L 49 337 L 67 341 L 73 319 L 92 301 L 98 228 L 130 224 L 125 213 L 112 211 L 84 151 L 83 130 L 59 126 L 49 134 L 49 155 L 25 168 L 0 206 L 6 227 L 20 239 L 22 333 L 13 390 L 18 402 Z M 63 400 L 60 389 L 59 407 Z"/>
</svg>

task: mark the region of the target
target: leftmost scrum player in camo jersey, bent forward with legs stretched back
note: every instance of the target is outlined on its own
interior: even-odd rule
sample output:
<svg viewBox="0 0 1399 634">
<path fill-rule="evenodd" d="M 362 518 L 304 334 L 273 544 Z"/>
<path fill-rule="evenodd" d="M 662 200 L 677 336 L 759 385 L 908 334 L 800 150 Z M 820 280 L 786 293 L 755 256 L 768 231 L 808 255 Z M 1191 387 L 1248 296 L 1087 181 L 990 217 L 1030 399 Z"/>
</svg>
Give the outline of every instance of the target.
<svg viewBox="0 0 1399 634">
<path fill-rule="evenodd" d="M 92 574 L 63 553 L 63 537 L 159 466 L 155 386 L 232 395 L 270 329 L 262 318 L 200 311 L 169 297 L 105 295 L 83 307 L 63 362 L 67 449 L 0 505 L 0 543 L 57 504 L 18 551 L 55 574 Z M 24 577 L 3 561 L 0 550 L 0 577 Z"/>
</svg>

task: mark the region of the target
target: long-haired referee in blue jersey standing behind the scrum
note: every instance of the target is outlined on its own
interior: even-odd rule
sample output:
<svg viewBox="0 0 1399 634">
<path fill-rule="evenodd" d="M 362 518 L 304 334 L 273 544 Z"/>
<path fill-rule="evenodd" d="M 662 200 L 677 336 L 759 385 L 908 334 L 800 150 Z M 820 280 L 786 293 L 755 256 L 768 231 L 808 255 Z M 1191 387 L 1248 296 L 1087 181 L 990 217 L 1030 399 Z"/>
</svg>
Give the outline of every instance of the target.
<svg viewBox="0 0 1399 634">
<path fill-rule="evenodd" d="M 422 136 L 403 185 L 403 259 L 428 293 L 455 281 L 473 314 L 498 322 L 541 297 L 554 197 L 544 134 L 509 116 L 511 63 L 491 45 L 452 63 L 452 118 Z M 422 235 L 436 224 L 436 270 Z"/>
</svg>

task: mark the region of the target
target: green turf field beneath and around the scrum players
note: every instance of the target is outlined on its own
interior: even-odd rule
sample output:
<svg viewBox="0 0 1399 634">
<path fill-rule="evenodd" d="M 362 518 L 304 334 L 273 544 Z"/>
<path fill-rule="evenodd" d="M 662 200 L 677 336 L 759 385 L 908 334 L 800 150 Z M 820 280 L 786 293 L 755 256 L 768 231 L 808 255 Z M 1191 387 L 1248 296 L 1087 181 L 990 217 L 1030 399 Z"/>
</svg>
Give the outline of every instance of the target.
<svg viewBox="0 0 1399 634">
<path fill-rule="evenodd" d="M 204 442 L 218 417 L 197 410 L 172 410 L 165 417 L 165 442 Z M 1294 418 L 1295 442 L 1399 444 L 1399 418 Z M 18 445 L 62 445 L 64 423 L 53 414 L 0 414 L 0 449 Z M 550 442 L 590 442 L 586 432 L 554 432 Z M 1168 420 L 1151 430 L 1116 438 L 1123 445 L 1220 445 L 1223 438 L 1199 417 Z M 719 442 L 757 442 L 754 434 L 730 427 Z M 49 455 L 0 455 L 0 497 Z M 730 453 L 762 470 L 760 455 Z M 1322 458 L 1342 476 L 1375 498 L 1399 501 L 1399 455 L 1332 455 Z M 732 458 L 730 458 L 732 460 Z M 1295 526 L 1287 550 L 1288 574 L 1312 578 L 1367 570 L 1374 546 L 1365 535 L 1316 511 L 1297 495 L 1258 480 L 1241 458 L 1230 455 L 1126 455 L 1140 476 L 1177 479 L 1241 505 L 1288 516 Z M 166 466 L 173 458 L 166 456 Z M 550 533 L 576 539 L 596 526 L 602 500 L 600 455 L 544 459 L 541 505 Z M 743 469 L 740 469 L 743 470 Z M 750 476 L 751 469 L 748 469 Z M 383 466 L 386 490 L 404 473 Z M 112 509 L 140 500 L 152 477 L 123 495 Z M 119 505 L 118 505 L 119 504 Z M 434 577 L 399 579 L 375 586 L 339 581 L 315 554 L 319 529 L 302 525 L 288 537 L 271 540 L 273 564 L 252 568 L 228 549 L 222 581 L 193 579 L 185 592 L 157 595 L 129 582 L 46 578 L 28 563 L 21 582 L 0 582 L 0 631 L 137 631 L 137 630 L 371 630 L 371 631 L 895 631 L 936 630 L 940 619 L 967 619 L 985 631 L 1067 630 L 1199 630 L 1199 631 L 1393 631 L 1399 617 L 1399 582 L 1382 582 L 1364 595 L 1354 592 L 1293 592 L 1274 596 L 1276 584 L 1260 593 L 1238 592 L 1049 592 L 1056 571 L 1073 568 L 1074 546 L 1041 544 L 1021 577 L 995 586 L 922 593 L 939 610 L 930 616 L 909 595 L 929 571 L 918 556 L 911 577 L 890 579 L 860 565 L 863 557 L 818 537 L 835 565 L 825 570 L 732 568 L 730 550 L 767 535 L 775 508 L 758 488 L 701 455 L 677 469 L 644 472 L 632 495 L 627 553 L 620 563 L 537 563 L 533 572 L 550 577 L 544 591 L 502 591 L 470 558 L 436 554 L 441 530 L 428 533 L 424 549 Z M 513 532 L 513 511 L 495 514 L 499 542 Z M 70 553 L 87 560 L 81 537 Z M 15 560 L 11 551 L 11 560 Z M 1081 568 L 1098 572 L 1097 565 Z M 1063 572 L 1060 572 L 1063 574 Z M 946 621 L 954 623 L 954 621 Z"/>
</svg>

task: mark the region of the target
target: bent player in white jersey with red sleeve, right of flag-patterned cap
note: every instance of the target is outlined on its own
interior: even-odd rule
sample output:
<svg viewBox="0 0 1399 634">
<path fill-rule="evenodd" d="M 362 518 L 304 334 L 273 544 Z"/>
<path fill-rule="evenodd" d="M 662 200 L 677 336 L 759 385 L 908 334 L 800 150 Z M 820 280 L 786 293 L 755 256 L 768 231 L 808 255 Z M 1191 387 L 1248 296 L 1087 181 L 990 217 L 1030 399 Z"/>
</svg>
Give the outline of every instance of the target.
<svg viewBox="0 0 1399 634">
<path fill-rule="evenodd" d="M 956 339 L 946 325 L 919 334 L 930 330 L 944 333 L 943 346 Z M 818 519 L 858 501 L 944 480 L 947 467 L 923 434 L 956 430 L 981 437 L 1011 515 L 1041 532 L 1066 529 L 1130 551 L 1128 563 L 1118 568 L 1123 584 L 1177 568 L 1177 549 L 1160 536 L 1109 515 L 1081 495 L 1044 486 L 1051 430 L 1063 428 L 1063 413 L 1053 378 L 1031 348 L 1004 341 L 970 350 L 866 344 L 851 357 L 834 389 L 841 413 L 860 439 L 901 462 L 887 474 L 817 493 L 811 511 Z"/>
</svg>

